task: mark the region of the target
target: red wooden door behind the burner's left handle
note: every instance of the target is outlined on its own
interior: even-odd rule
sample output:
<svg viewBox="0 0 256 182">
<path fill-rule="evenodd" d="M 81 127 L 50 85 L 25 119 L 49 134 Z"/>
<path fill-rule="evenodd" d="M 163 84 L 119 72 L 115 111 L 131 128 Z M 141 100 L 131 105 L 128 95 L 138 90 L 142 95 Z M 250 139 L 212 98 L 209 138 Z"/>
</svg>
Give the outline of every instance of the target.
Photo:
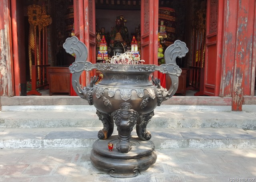
<svg viewBox="0 0 256 182">
<path fill-rule="evenodd" d="M 74 0 L 74 31 L 88 49 L 87 61 L 96 63 L 95 0 Z M 82 73 L 82 86 L 89 84 L 93 75 L 95 71 Z"/>
</svg>

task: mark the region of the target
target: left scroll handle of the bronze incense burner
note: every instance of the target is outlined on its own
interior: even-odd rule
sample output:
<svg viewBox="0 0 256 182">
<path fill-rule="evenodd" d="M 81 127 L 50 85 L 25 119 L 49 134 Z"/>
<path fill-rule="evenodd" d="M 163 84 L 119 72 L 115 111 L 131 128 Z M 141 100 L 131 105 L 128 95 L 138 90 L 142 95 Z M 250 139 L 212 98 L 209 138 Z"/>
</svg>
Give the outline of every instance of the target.
<svg viewBox="0 0 256 182">
<path fill-rule="evenodd" d="M 90 87 L 82 89 L 80 86 L 80 76 L 84 70 L 90 71 L 95 69 L 97 67 L 96 64 L 92 64 L 89 61 L 86 61 L 88 56 L 87 47 L 75 36 L 67 38 L 63 44 L 63 48 L 70 55 L 76 55 L 75 62 L 72 63 L 72 65 L 69 67 L 69 70 L 72 73 L 72 86 L 76 94 L 86 100 L 90 100 L 90 98 L 87 98 L 88 96 L 86 96 L 88 95 L 86 90 L 90 90 L 93 85 L 90 84 Z M 95 78 L 93 80 L 95 81 Z"/>
</svg>

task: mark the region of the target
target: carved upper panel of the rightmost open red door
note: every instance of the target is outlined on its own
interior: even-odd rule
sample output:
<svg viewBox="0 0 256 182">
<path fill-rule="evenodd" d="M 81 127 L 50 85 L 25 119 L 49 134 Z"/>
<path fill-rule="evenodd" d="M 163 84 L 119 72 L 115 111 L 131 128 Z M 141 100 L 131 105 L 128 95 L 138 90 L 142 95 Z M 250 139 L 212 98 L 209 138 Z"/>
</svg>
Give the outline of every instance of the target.
<svg viewBox="0 0 256 182">
<path fill-rule="evenodd" d="M 218 0 L 210 0 L 210 27 L 209 33 L 217 31 L 218 24 Z"/>
</svg>

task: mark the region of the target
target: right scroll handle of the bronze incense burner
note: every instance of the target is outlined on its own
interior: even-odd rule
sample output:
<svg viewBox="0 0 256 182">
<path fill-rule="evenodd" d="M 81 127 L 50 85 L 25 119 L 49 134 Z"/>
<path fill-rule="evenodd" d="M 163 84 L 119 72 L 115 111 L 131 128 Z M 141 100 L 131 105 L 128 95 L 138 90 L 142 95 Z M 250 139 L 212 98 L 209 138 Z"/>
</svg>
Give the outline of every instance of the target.
<svg viewBox="0 0 256 182">
<path fill-rule="evenodd" d="M 185 57 L 186 53 L 188 53 L 188 47 L 186 47 L 186 43 L 176 40 L 172 45 L 166 48 L 164 52 L 164 59 L 166 64 L 162 64 L 160 66 L 156 66 L 156 70 L 168 74 L 172 80 L 172 85 L 168 92 L 166 92 L 166 98 L 164 100 L 168 100 L 171 98 L 178 89 L 178 76 L 180 76 L 182 70 L 176 65 L 176 58 Z"/>
</svg>

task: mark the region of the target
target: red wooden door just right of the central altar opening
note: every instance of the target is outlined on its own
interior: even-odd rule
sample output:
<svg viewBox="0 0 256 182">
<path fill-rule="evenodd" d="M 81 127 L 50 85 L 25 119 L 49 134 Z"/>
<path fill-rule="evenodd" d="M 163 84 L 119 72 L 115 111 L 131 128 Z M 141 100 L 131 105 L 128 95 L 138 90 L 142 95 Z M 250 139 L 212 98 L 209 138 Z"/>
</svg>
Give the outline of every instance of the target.
<svg viewBox="0 0 256 182">
<path fill-rule="evenodd" d="M 141 1 L 141 59 L 158 65 L 158 0 Z"/>
</svg>

